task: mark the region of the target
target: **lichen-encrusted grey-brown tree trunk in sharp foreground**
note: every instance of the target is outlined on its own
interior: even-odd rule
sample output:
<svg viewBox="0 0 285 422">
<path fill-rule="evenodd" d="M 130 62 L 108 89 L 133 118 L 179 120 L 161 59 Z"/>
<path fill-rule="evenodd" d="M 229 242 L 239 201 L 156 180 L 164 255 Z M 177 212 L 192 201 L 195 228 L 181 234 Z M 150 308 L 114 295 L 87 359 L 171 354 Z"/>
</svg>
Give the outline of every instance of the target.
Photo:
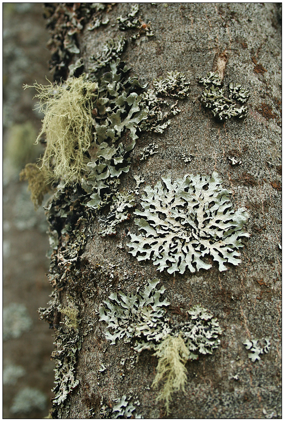
<svg viewBox="0 0 285 422">
<path fill-rule="evenodd" d="M 53 357 L 58 364 L 52 417 L 280 419 L 279 3 L 139 3 L 139 10 L 132 8 L 137 3 L 103 3 L 102 10 L 102 3 L 94 9 L 92 3 L 59 4 L 56 11 L 50 6 L 47 17 L 55 78 L 79 76 L 84 70 L 98 83 L 99 100 L 94 94 L 97 144 L 94 147 L 93 141 L 88 154 L 84 151 L 95 163 L 96 189 L 86 178 L 90 165 L 83 166 L 77 184 L 53 183 L 54 194 L 46 206 L 53 247 L 48 278 L 54 293 L 49 308 L 40 312 L 55 329 Z M 54 19 L 57 26 L 52 25 Z M 62 40 L 57 37 L 56 43 L 57 33 Z M 122 36 L 127 40 L 123 52 L 116 44 Z M 114 46 L 104 55 L 109 40 L 115 40 Z M 127 97 L 116 124 L 114 113 L 100 100 L 98 75 L 110 72 L 110 56 L 113 63 L 119 58 L 131 68 L 130 73 L 120 73 L 129 85 L 124 85 Z M 197 81 L 211 71 L 216 73 L 210 75 L 211 82 Z M 181 73 L 171 74 L 176 85 L 168 72 Z M 135 74 L 148 87 L 130 88 L 128 78 Z M 206 90 L 217 93 L 219 83 L 226 105 L 215 106 Z M 241 84 L 237 97 L 228 91 L 230 83 Z M 111 93 L 117 88 L 104 89 Z M 143 92 L 150 95 L 148 89 L 153 89 L 156 105 L 143 97 Z M 243 89 L 249 91 L 248 101 Z M 118 110 L 117 99 L 115 103 Z M 100 123 L 100 106 L 109 113 L 109 135 L 99 135 L 106 123 Z M 158 108 L 164 113 L 161 120 Z M 120 143 L 124 170 L 115 167 L 114 155 L 110 166 L 106 164 L 108 147 L 114 150 Z M 110 176 L 102 176 L 107 188 L 101 190 L 96 170 L 100 159 Z M 115 168 L 117 175 L 112 174 Z M 64 172 L 58 176 L 67 179 Z M 118 179 L 119 186 L 114 182 Z M 211 227 L 209 220 L 214 221 Z M 173 232 L 168 237 L 170 224 Z M 236 237 L 227 244 L 229 231 Z M 159 283 L 146 294 L 148 280 L 155 279 Z M 139 313 L 135 298 L 148 316 Z M 159 300 L 165 300 L 164 305 Z M 210 340 L 215 340 L 208 348 L 196 345 L 190 353 L 185 327 L 195 325 L 198 304 L 217 318 L 220 329 L 217 325 L 214 335 L 215 320 L 203 319 L 200 313 L 200 323 L 210 324 L 204 333 L 211 332 Z M 143 323 L 149 324 L 150 337 Z M 181 346 L 170 357 L 171 368 L 163 367 L 159 355 L 165 339 L 173 347 L 179 339 L 187 349 L 185 356 Z M 172 373 L 176 358 L 181 377 L 184 366 L 187 370 L 186 382 Z M 158 362 L 164 378 L 153 385 L 160 373 Z"/>
</svg>

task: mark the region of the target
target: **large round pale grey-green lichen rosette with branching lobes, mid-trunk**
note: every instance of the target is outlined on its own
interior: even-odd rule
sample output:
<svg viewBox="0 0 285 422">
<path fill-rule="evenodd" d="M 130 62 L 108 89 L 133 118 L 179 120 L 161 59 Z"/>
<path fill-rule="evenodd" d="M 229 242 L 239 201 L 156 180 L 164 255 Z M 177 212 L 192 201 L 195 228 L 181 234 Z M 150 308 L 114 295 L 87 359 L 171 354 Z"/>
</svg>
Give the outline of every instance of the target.
<svg viewBox="0 0 285 422">
<path fill-rule="evenodd" d="M 212 264 L 207 257 L 218 262 L 219 271 L 227 270 L 225 263 L 238 265 L 242 238 L 249 237 L 243 229 L 249 214 L 245 208 L 233 209 L 231 192 L 221 184 L 214 172 L 174 182 L 162 177 L 154 188 L 147 186 L 142 210 L 134 212 L 141 217 L 135 219 L 141 233 L 129 232 L 129 252 L 170 274 L 208 270 Z"/>
</svg>

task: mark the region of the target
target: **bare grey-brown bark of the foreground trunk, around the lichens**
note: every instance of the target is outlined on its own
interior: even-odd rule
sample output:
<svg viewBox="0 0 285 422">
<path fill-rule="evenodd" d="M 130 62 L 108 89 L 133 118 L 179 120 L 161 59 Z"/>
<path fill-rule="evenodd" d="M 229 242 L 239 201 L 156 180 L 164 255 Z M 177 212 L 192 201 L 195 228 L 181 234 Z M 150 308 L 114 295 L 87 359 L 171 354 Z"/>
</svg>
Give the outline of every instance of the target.
<svg viewBox="0 0 285 422">
<path fill-rule="evenodd" d="M 153 79 L 178 71 L 190 82 L 190 93 L 178 101 L 181 111 L 163 133 L 137 131 L 130 170 L 120 176 L 120 190 L 134 190 L 134 176 L 141 176 L 145 182 L 139 187 L 135 208 L 142 210 L 145 186 L 153 188 L 161 176 L 175 181 L 185 174 L 217 172 L 222 187 L 232 192 L 234 210 L 244 207 L 249 213 L 244 230 L 250 236 L 242 239 L 240 264 L 226 263 L 227 271 L 219 271 L 217 262 L 208 256 L 204 262 L 212 264 L 209 270 L 158 272 L 152 260 L 138 261 L 129 253 L 128 233 L 141 233 L 133 211 L 128 221 L 117 226 L 115 236 L 103 237 L 99 216 L 100 212 L 101 217 L 107 215 L 108 209 L 99 214 L 89 209 L 87 221 L 80 226 L 86 242 L 75 260 L 66 262 L 61 255 L 73 248 L 75 232 L 69 238 L 59 237 L 49 273 L 54 296 L 50 308 L 42 310 L 55 327 L 54 356 L 63 366 L 68 356 L 60 350 L 70 347 L 68 341 L 75 345 L 70 358 L 74 389 L 54 404 L 52 417 L 116 417 L 115 406 L 119 408 L 125 397 L 128 415 L 144 419 L 281 419 L 280 5 L 139 3 L 136 17 L 141 18 L 141 27 L 122 32 L 117 18 L 126 17 L 133 4 L 112 3 L 102 11 L 102 19 L 110 20 L 108 25 L 92 30 L 88 25 L 95 11 L 90 13 L 77 34 L 80 53 L 72 56 L 72 63 L 81 57 L 88 73 L 90 56 L 99 54 L 106 41 L 124 35 L 128 43 L 121 59 L 131 74 L 152 87 Z M 152 37 L 144 32 L 149 23 Z M 132 35 L 138 36 L 131 39 Z M 212 70 L 224 78 L 224 87 L 232 82 L 249 90 L 245 119 L 219 122 L 202 106 L 199 96 L 204 87 L 197 77 Z M 128 133 L 121 134 L 124 145 L 131 143 Z M 140 160 L 153 142 L 157 152 Z M 71 200 L 70 206 L 75 216 L 77 205 Z M 187 382 L 184 391 L 173 394 L 169 414 L 163 400 L 156 400 L 159 390 L 152 387 L 158 362 L 153 350 L 136 353 L 133 343 L 124 338 L 110 344 L 107 323 L 99 321 L 99 307 L 111 294 L 134 294 L 155 278 L 160 280 L 157 288 L 166 289 L 163 298 L 170 302 L 166 314 L 174 325 L 186 321 L 186 311 L 200 304 L 221 328 L 219 347 L 186 363 Z M 68 314 L 67 308 L 74 313 Z M 74 328 L 69 334 L 66 321 Z M 244 343 L 258 340 L 257 345 L 264 345 L 264 339 L 270 341 L 268 353 L 250 359 Z M 67 375 L 60 369 L 57 373 L 55 394 L 60 396 L 61 389 L 65 390 L 60 378 Z M 130 410 L 131 405 L 135 410 Z"/>
</svg>

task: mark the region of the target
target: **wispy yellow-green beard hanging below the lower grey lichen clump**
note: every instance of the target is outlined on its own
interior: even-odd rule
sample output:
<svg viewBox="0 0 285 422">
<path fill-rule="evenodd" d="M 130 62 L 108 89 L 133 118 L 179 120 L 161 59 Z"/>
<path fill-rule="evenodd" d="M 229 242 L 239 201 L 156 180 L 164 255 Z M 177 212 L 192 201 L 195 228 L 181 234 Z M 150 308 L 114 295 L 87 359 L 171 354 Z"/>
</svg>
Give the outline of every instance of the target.
<svg viewBox="0 0 285 422">
<path fill-rule="evenodd" d="M 189 359 L 189 350 L 180 335 L 174 337 L 168 335 L 165 340 L 155 348 L 154 355 L 158 357 L 156 375 L 152 387 L 157 387 L 160 381 L 164 381 L 156 400 L 164 400 L 167 413 L 173 394 L 179 390 L 184 391 L 187 381 L 185 364 Z"/>
</svg>

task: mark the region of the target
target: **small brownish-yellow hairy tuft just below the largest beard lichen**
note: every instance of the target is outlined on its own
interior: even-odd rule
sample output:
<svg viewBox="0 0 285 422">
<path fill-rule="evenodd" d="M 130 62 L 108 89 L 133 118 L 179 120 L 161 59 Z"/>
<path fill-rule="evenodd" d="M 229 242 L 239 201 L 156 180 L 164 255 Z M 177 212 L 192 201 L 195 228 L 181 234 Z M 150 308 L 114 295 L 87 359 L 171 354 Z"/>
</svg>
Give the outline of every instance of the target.
<svg viewBox="0 0 285 422">
<path fill-rule="evenodd" d="M 31 192 L 31 200 L 35 209 L 39 208 L 43 202 L 44 195 L 49 191 L 49 185 L 46 180 L 46 174 L 41 171 L 36 164 L 26 164 L 20 173 L 20 180 L 28 181 L 28 189 Z"/>
</svg>

